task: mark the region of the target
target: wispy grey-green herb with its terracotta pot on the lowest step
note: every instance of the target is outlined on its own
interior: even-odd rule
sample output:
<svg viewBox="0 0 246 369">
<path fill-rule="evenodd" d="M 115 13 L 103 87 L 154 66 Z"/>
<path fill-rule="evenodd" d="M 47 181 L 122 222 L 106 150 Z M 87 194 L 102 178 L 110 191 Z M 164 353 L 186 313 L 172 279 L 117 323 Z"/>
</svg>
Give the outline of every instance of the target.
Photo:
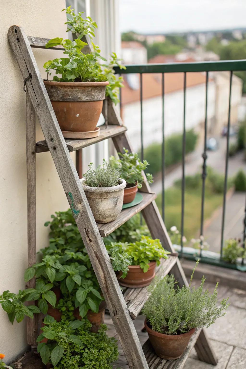
<svg viewBox="0 0 246 369">
<path fill-rule="evenodd" d="M 198 263 L 197 263 L 198 264 Z M 195 268 L 191 275 L 193 278 Z M 205 278 L 196 289 L 175 288 L 174 276 L 157 278 L 149 286 L 150 297 L 142 314 L 146 315 L 145 328 L 157 356 L 174 360 L 183 354 L 195 328 L 210 327 L 215 320 L 225 315 L 229 306 L 223 299 L 218 306 L 217 286 L 214 293 L 204 289 Z"/>
</svg>

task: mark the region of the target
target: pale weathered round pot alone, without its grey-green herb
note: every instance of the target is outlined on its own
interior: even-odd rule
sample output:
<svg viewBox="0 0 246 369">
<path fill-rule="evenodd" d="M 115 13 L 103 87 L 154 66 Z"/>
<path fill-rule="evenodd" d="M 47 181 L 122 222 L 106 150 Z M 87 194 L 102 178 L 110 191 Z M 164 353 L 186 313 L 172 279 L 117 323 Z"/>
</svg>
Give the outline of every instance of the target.
<svg viewBox="0 0 246 369">
<path fill-rule="evenodd" d="M 112 187 L 89 187 L 84 184 L 84 178 L 80 181 L 96 222 L 109 223 L 115 220 L 122 209 L 127 185 L 125 180 L 119 178 L 119 184 Z"/>
</svg>

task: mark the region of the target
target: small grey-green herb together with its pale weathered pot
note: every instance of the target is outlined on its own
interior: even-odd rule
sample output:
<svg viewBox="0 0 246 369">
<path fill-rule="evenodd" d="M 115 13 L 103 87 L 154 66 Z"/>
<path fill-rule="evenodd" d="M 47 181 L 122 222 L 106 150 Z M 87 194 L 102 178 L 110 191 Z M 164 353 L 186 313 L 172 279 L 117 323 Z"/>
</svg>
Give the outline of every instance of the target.
<svg viewBox="0 0 246 369">
<path fill-rule="evenodd" d="M 96 169 L 92 165 L 90 163 L 89 170 L 81 179 L 83 190 L 96 222 L 109 223 L 121 212 L 127 183 L 119 178 L 118 170 L 111 168 L 105 159 L 103 165 Z"/>
</svg>

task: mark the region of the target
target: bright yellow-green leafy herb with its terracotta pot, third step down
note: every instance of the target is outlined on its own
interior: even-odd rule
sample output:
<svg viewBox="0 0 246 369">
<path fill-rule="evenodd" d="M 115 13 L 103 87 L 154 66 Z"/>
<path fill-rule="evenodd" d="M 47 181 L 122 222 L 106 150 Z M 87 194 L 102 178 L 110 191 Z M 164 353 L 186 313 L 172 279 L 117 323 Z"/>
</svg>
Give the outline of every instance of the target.
<svg viewBox="0 0 246 369">
<path fill-rule="evenodd" d="M 145 287 L 155 277 L 155 267 L 160 259 L 168 258 L 159 239 L 142 236 L 134 243 L 111 242 L 106 245 L 112 266 L 118 272 L 119 284 L 124 287 Z"/>
</svg>

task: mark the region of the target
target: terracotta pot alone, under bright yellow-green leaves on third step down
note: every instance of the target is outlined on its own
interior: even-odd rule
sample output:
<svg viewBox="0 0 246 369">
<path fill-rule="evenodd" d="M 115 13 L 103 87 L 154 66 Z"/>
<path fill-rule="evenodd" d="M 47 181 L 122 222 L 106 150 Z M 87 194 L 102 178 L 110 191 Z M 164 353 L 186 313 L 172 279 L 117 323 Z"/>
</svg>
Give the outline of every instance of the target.
<svg viewBox="0 0 246 369">
<path fill-rule="evenodd" d="M 144 273 L 140 265 L 129 265 L 129 272 L 124 279 L 120 278 L 122 272 L 119 272 L 117 276 L 118 282 L 121 286 L 130 288 L 149 286 L 150 282 L 155 277 L 155 267 L 156 261 L 151 261 L 148 271 Z"/>
</svg>

